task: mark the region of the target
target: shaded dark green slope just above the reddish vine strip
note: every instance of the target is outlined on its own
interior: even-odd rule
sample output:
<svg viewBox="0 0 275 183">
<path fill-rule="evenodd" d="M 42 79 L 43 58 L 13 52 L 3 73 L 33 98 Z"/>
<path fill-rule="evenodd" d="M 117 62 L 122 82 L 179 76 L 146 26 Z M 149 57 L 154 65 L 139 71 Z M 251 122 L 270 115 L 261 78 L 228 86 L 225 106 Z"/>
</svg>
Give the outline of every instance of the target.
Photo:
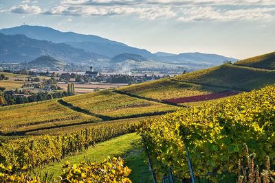
<svg viewBox="0 0 275 183">
<path fill-rule="evenodd" d="M 274 84 L 275 71 L 223 64 L 210 69 L 178 75 L 174 79 L 237 90 L 252 90 L 263 88 L 267 84 Z"/>
</svg>

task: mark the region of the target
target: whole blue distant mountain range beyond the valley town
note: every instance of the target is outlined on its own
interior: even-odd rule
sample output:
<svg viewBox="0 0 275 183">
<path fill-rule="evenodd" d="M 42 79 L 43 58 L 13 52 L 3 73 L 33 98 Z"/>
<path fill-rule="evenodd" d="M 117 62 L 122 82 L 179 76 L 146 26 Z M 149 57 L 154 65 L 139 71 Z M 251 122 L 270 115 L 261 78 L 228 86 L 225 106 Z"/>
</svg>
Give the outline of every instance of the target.
<svg viewBox="0 0 275 183">
<path fill-rule="evenodd" d="M 151 53 L 146 49 L 129 47 L 122 42 L 99 36 L 60 32 L 50 27 L 22 25 L 0 29 L 0 62 L 29 62 L 43 55 L 87 65 L 91 62 L 95 64 L 98 60 L 107 60 L 110 63 L 151 60 L 154 62 L 150 63 L 160 62 L 165 66 L 205 68 L 222 64 L 224 61 L 236 61 L 234 58 L 206 53 Z"/>
</svg>

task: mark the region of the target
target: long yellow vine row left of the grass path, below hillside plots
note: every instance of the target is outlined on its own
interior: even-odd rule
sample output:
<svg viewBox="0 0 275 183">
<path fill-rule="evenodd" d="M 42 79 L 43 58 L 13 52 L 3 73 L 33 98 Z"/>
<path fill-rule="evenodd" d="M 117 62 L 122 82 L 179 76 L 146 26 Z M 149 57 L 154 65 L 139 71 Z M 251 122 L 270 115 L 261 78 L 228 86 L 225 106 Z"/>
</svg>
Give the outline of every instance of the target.
<svg viewBox="0 0 275 183">
<path fill-rule="evenodd" d="M 32 169 L 49 162 L 58 162 L 65 156 L 80 153 L 95 143 L 107 141 L 115 136 L 135 132 L 138 121 L 129 123 L 102 123 L 70 134 L 30 136 L 2 142 L 0 162 L 12 171 Z"/>
</svg>

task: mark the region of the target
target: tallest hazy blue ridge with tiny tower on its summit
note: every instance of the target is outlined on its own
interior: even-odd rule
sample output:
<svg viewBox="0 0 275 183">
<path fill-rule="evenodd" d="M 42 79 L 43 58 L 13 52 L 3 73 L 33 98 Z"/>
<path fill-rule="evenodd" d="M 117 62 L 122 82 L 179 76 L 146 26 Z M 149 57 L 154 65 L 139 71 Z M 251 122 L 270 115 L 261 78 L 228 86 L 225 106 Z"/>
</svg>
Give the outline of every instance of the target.
<svg viewBox="0 0 275 183">
<path fill-rule="evenodd" d="M 98 53 L 109 58 L 120 53 L 135 53 L 148 58 L 156 58 L 146 49 L 129 47 L 122 42 L 116 42 L 94 35 L 77 34 L 74 32 L 60 32 L 50 27 L 22 25 L 7 29 L 0 29 L 3 34 L 23 34 L 37 40 L 49 40 L 56 43 L 67 43 L 73 47 L 85 49 L 92 53 Z"/>
</svg>

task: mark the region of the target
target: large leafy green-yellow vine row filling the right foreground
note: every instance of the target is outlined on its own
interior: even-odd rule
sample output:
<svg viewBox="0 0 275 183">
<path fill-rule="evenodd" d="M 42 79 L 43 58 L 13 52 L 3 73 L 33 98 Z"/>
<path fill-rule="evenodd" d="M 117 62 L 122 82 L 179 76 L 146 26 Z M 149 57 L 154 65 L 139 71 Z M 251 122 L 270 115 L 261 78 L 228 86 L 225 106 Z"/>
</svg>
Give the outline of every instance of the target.
<svg viewBox="0 0 275 183">
<path fill-rule="evenodd" d="M 196 177 L 217 180 L 222 173 L 237 173 L 244 143 L 257 154 L 259 167 L 267 155 L 274 163 L 274 91 L 267 86 L 146 121 L 140 135 L 153 169 L 190 178 L 190 160 Z"/>
</svg>

